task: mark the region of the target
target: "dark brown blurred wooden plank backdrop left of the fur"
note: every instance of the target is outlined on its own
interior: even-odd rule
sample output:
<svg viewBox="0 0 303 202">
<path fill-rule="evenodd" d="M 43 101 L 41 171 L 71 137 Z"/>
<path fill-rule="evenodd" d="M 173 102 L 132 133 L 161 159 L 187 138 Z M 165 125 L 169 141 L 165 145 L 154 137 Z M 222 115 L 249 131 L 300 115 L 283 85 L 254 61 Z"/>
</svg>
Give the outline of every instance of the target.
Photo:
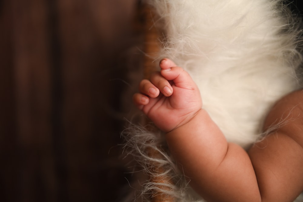
<svg viewBox="0 0 303 202">
<path fill-rule="evenodd" d="M 0 0 L 0 200 L 118 201 L 136 0 Z M 132 68 L 134 68 L 132 66 Z M 139 68 L 139 67 L 136 67 Z"/>
</svg>

